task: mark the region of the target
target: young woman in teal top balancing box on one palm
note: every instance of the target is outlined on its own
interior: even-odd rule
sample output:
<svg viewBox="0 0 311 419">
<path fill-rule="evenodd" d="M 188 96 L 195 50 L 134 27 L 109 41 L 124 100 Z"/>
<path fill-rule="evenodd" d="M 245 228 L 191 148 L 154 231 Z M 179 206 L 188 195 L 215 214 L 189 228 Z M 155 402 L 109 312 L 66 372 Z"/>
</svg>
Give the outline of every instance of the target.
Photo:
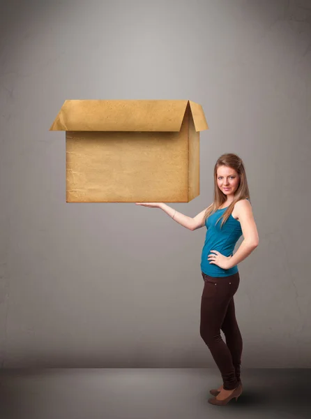
<svg viewBox="0 0 311 419">
<path fill-rule="evenodd" d="M 208 402 L 225 405 L 242 392 L 243 341 L 234 309 L 234 294 L 240 282 L 237 265 L 259 244 L 243 161 L 236 154 L 220 156 L 214 167 L 214 201 L 194 218 L 176 212 L 165 203 L 136 205 L 160 208 L 192 231 L 206 226 L 201 258 L 204 290 L 200 335 L 220 369 L 223 382 L 220 388 L 210 391 L 215 397 Z M 244 240 L 233 254 L 241 235 Z M 220 330 L 224 332 L 226 343 Z"/>
</svg>

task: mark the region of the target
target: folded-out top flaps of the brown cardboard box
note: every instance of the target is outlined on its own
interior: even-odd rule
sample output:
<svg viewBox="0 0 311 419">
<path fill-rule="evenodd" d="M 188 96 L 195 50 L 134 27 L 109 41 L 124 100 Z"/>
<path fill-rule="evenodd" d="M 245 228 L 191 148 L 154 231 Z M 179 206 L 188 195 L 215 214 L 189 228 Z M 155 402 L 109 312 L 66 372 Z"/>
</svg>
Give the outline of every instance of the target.
<svg viewBox="0 0 311 419">
<path fill-rule="evenodd" d="M 180 131 L 186 106 L 196 131 L 208 129 L 202 106 L 186 100 L 67 100 L 50 131 Z"/>
</svg>

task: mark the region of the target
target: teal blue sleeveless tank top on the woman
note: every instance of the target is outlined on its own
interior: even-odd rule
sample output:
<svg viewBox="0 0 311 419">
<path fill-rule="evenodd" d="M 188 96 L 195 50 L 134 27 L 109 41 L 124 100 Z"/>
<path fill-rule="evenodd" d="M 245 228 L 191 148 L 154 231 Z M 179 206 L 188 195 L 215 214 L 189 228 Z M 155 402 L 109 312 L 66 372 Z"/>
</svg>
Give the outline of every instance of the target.
<svg viewBox="0 0 311 419">
<path fill-rule="evenodd" d="M 224 256 L 233 255 L 236 242 L 243 234 L 240 221 L 234 219 L 232 214 L 230 214 L 227 221 L 223 224 L 222 229 L 220 229 L 222 219 L 215 225 L 225 210 L 227 210 L 227 207 L 217 210 L 208 216 L 205 221 L 207 230 L 202 249 L 201 270 L 209 277 L 229 277 L 229 275 L 238 272 L 238 265 L 230 269 L 222 269 L 222 267 L 215 265 L 215 263 L 209 263 L 210 261 L 207 258 L 211 254 L 211 250 L 217 250 Z"/>
</svg>

